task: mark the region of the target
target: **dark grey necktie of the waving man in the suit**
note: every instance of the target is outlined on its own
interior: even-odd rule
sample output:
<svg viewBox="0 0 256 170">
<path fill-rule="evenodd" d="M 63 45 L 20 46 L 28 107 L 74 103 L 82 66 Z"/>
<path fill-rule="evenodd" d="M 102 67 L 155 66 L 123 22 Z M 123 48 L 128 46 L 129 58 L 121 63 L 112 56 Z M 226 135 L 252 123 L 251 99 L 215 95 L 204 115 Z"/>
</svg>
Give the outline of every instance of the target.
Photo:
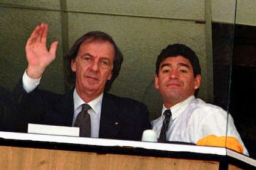
<svg viewBox="0 0 256 170">
<path fill-rule="evenodd" d="M 91 137 L 91 118 L 87 110 L 91 107 L 82 104 L 82 111 L 77 115 L 74 126 L 80 127 L 80 137 Z"/>
</svg>

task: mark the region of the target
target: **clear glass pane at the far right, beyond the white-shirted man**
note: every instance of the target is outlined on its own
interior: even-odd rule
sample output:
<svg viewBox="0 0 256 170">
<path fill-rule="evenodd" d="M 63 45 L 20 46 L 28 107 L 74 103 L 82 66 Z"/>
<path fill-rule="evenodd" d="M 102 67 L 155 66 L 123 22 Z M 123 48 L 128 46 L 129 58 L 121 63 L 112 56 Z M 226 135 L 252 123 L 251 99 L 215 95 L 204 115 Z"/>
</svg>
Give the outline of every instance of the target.
<svg viewBox="0 0 256 170">
<path fill-rule="evenodd" d="M 248 1 L 236 2 L 229 98 L 229 112 L 252 158 L 256 158 L 256 22 L 252 19 L 255 8 L 256 5 Z"/>
</svg>

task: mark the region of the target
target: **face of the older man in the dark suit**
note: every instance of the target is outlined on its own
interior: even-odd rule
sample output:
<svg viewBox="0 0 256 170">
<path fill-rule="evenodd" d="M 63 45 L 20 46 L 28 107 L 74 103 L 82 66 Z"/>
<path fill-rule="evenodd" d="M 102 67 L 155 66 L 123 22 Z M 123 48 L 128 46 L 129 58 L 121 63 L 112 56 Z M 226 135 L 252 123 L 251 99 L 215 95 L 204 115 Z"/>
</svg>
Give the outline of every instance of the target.
<svg viewBox="0 0 256 170">
<path fill-rule="evenodd" d="M 108 41 L 83 42 L 77 58 L 71 61 L 76 72 L 76 89 L 79 95 L 98 97 L 112 77 L 115 49 Z"/>
</svg>

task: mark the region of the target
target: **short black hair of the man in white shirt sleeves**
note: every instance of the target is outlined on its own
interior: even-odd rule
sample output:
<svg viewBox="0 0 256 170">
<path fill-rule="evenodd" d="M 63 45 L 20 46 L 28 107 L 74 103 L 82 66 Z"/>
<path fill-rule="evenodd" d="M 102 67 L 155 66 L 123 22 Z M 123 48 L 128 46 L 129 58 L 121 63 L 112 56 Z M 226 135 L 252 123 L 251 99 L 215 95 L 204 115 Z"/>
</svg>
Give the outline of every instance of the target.
<svg viewBox="0 0 256 170">
<path fill-rule="evenodd" d="M 190 61 L 190 64 L 193 67 L 194 77 L 196 77 L 198 74 L 201 75 L 201 67 L 196 53 L 190 49 L 190 47 L 183 44 L 170 44 L 161 51 L 160 55 L 157 56 L 155 73 L 158 75 L 159 67 L 163 60 L 169 57 L 177 57 L 179 55 L 187 58 Z"/>
</svg>

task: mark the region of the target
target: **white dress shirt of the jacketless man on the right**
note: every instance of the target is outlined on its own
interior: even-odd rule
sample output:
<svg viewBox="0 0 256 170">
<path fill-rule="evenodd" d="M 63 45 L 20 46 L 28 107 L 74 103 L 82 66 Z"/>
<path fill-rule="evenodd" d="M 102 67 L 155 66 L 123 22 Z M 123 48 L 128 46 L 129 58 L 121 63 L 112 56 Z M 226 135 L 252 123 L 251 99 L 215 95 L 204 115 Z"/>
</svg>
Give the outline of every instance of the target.
<svg viewBox="0 0 256 170">
<path fill-rule="evenodd" d="M 244 154 L 249 155 L 247 149 L 236 131 L 233 118 L 221 107 L 205 103 L 194 96 L 188 97 L 171 108 L 163 106 L 162 115 L 151 121 L 152 129 L 159 137 L 166 109 L 171 109 L 172 117 L 166 134 L 168 141 L 183 141 L 196 143 L 207 135 L 235 137 L 243 146 Z"/>
</svg>

